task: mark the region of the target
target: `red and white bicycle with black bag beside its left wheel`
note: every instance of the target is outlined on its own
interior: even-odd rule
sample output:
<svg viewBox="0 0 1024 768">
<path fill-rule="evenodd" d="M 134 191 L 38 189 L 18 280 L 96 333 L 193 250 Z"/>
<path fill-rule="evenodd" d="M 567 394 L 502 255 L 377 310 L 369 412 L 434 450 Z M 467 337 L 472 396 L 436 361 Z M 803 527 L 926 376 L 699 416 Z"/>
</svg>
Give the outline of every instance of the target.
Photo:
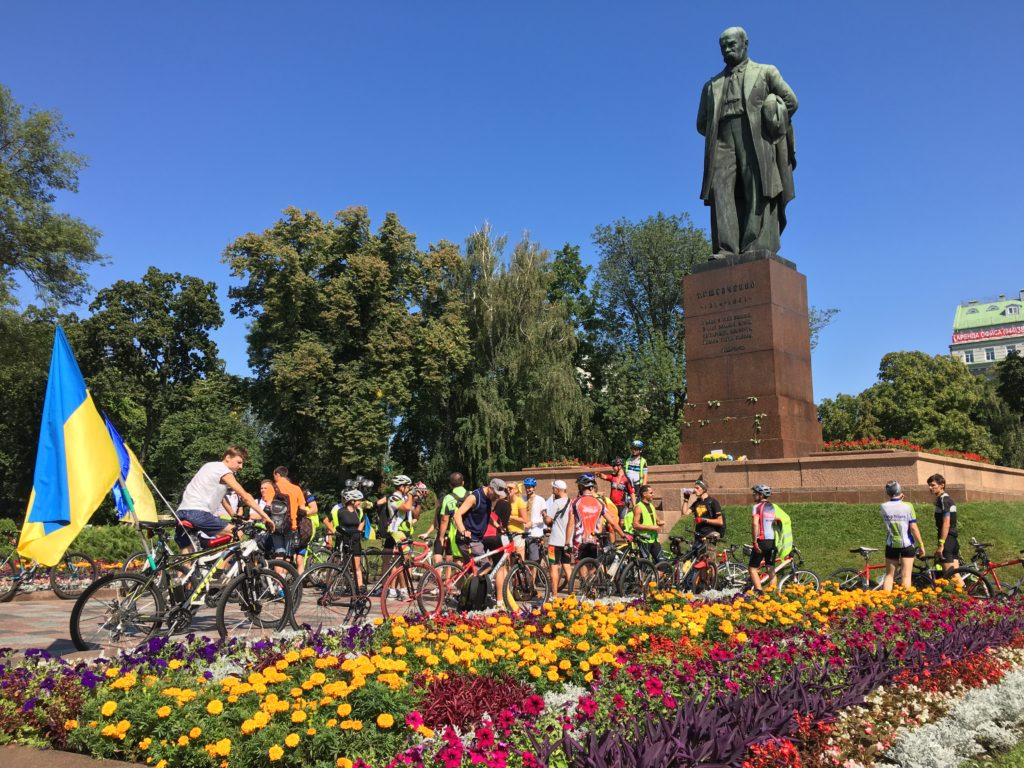
<svg viewBox="0 0 1024 768">
<path fill-rule="evenodd" d="M 520 607 L 538 608 L 551 597 L 551 580 L 545 569 L 536 562 L 519 557 L 515 545 L 508 534 L 502 535 L 502 545 L 481 555 L 471 556 L 464 563 L 446 561 L 437 568 L 444 585 L 444 610 L 457 612 L 462 609 L 460 601 L 473 577 L 487 582 L 487 605 L 498 606 L 498 574 L 508 565 L 502 584 L 502 602 L 506 609 L 515 611 Z M 494 558 L 498 561 L 494 562 Z"/>
</svg>

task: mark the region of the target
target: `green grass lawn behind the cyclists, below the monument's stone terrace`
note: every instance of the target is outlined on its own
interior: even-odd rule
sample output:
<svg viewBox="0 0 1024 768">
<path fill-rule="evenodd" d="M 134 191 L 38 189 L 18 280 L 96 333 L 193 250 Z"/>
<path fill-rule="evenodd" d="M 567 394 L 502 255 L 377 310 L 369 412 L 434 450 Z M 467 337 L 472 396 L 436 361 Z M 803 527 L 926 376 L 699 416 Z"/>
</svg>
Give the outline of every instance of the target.
<svg viewBox="0 0 1024 768">
<path fill-rule="evenodd" d="M 820 577 L 837 568 L 860 567 L 863 560 L 851 555 L 854 547 L 885 547 L 886 534 L 877 504 L 785 504 L 781 505 L 793 519 L 794 543 L 804 555 L 805 566 Z M 974 549 L 969 542 L 975 537 L 979 542 L 994 545 L 989 553 L 993 560 L 1009 560 L 1024 549 L 1024 504 L 1010 502 L 971 502 L 958 504 L 957 527 L 961 556 L 970 561 Z M 925 540 L 928 554 L 936 546 L 934 507 L 915 504 L 918 524 Z M 751 508 L 725 507 L 728 524 L 728 543 L 749 543 L 751 537 Z M 677 536 L 693 535 L 693 518 L 682 518 L 673 527 Z M 884 555 L 877 552 L 871 563 L 882 563 Z M 1006 574 L 1006 575 L 1004 575 Z M 1004 583 L 1015 584 L 1024 577 L 1024 568 L 1015 565 L 999 571 Z"/>
</svg>

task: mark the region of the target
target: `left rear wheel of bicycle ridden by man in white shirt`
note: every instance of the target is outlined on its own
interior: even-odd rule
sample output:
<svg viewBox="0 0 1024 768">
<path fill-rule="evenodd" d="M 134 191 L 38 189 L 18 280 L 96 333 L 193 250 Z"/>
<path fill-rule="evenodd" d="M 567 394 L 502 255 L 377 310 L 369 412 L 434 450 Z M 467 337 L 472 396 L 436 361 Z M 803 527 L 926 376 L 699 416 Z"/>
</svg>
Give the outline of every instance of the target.
<svg viewBox="0 0 1024 768">
<path fill-rule="evenodd" d="M 71 639 L 79 650 L 130 650 L 160 629 L 164 596 L 137 573 L 109 573 L 93 582 L 71 611 Z"/>
</svg>

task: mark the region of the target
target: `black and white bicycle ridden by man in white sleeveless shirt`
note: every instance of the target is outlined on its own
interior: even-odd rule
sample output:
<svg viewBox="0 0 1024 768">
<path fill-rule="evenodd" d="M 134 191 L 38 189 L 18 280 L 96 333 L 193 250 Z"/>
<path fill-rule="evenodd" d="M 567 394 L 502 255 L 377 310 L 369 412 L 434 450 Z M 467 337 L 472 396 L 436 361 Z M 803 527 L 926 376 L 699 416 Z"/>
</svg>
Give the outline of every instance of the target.
<svg viewBox="0 0 1024 768">
<path fill-rule="evenodd" d="M 184 555 L 168 554 L 166 538 L 187 521 L 142 522 L 158 540 L 147 570 L 109 573 L 94 582 L 75 602 L 71 614 L 72 642 L 79 650 L 132 648 L 163 629 L 186 631 L 203 604 L 216 591 L 216 625 L 228 635 L 263 637 L 291 618 L 292 602 L 283 575 L 259 565 L 259 545 L 253 523 L 236 520 L 231 534 L 211 539 L 209 548 Z M 240 540 L 242 535 L 249 536 Z M 159 559 L 158 559 L 159 558 Z M 226 568 L 226 570 L 223 570 Z M 219 587 L 214 584 L 218 573 Z"/>
</svg>

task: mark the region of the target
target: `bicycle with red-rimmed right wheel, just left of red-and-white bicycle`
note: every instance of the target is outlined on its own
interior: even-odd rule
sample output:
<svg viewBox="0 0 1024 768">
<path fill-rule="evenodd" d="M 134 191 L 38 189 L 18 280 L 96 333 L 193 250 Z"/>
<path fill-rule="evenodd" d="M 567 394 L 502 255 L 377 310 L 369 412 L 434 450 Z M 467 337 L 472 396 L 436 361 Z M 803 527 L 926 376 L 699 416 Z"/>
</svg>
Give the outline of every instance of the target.
<svg viewBox="0 0 1024 768">
<path fill-rule="evenodd" d="M 437 615 L 443 600 L 443 585 L 437 571 L 426 562 L 430 545 L 407 539 L 396 542 L 395 547 L 395 555 L 380 577 L 371 583 L 369 594 L 359 594 L 355 588 L 350 554 L 342 561 L 327 562 L 306 570 L 291 588 L 292 624 L 313 631 L 361 624 L 370 614 L 372 599 L 378 590 L 384 618 Z M 411 548 L 423 552 L 414 558 Z M 366 571 L 364 579 L 367 579 Z M 303 594 L 306 592 L 310 594 Z"/>
</svg>

